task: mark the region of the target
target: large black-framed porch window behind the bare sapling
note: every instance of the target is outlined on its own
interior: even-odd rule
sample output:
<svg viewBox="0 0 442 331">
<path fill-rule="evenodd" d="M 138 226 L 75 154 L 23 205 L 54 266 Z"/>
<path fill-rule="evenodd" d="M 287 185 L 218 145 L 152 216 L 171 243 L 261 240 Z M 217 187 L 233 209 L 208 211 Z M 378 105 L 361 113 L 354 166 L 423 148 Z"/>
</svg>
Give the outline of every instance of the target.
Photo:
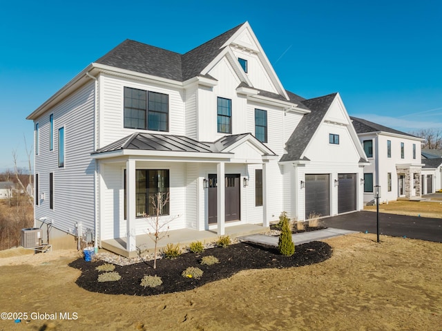
<svg viewBox="0 0 442 331">
<path fill-rule="evenodd" d="M 135 214 L 137 217 L 156 215 L 153 199 L 157 193 L 164 193 L 162 198 L 168 198 L 169 170 L 167 169 L 137 169 L 135 171 Z M 126 214 L 126 171 L 124 171 L 124 215 Z M 160 215 L 169 215 L 169 201 L 160 206 Z"/>
</svg>

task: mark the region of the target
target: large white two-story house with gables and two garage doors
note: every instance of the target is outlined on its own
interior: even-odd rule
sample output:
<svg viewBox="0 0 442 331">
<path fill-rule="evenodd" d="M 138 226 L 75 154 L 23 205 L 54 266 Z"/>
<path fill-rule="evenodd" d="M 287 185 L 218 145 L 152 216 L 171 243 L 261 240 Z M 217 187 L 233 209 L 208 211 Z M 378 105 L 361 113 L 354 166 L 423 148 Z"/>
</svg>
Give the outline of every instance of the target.
<svg viewBox="0 0 442 331">
<path fill-rule="evenodd" d="M 36 223 L 81 223 L 98 246 L 135 253 L 156 192 L 171 229 L 219 235 L 363 209 L 367 158 L 340 96 L 286 91 L 247 22 L 184 55 L 126 40 L 27 118 Z"/>
</svg>

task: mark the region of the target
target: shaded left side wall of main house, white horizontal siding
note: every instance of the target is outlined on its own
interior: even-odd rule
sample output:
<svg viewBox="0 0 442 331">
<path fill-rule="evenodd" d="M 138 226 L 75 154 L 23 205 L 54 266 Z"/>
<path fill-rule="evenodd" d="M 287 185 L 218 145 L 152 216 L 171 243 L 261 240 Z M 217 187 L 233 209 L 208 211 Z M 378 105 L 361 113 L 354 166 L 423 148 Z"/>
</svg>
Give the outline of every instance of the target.
<svg viewBox="0 0 442 331">
<path fill-rule="evenodd" d="M 45 199 L 35 206 L 35 218 L 53 220 L 53 226 L 73 232 L 75 223 L 83 229 L 95 228 L 95 84 L 90 82 L 47 111 L 39 122 L 39 155 L 35 173 L 39 174 L 39 193 Z M 53 150 L 49 150 L 49 117 L 54 115 Z M 58 130 L 64 127 L 64 167 L 58 167 Z M 49 173 L 53 173 L 54 208 L 50 209 Z M 39 197 L 37 197 L 39 198 Z"/>
</svg>

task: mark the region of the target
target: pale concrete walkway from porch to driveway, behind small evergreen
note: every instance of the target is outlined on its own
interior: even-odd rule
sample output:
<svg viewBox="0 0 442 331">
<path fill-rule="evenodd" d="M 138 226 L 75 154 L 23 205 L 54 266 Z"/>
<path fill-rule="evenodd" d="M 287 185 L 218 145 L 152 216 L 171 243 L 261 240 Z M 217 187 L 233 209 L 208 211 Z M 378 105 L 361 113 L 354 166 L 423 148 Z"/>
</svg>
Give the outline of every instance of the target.
<svg viewBox="0 0 442 331">
<path fill-rule="evenodd" d="M 322 240 L 336 236 L 343 236 L 344 234 L 356 234 L 358 232 L 359 231 L 335 229 L 334 227 L 329 227 L 327 229 L 318 230 L 318 231 L 308 231 L 308 232 L 302 232 L 300 234 L 292 234 L 291 238 L 293 238 L 295 245 L 300 245 L 304 243 L 309 243 L 311 241 Z M 278 246 L 278 236 L 265 236 L 263 234 L 252 234 L 250 236 L 240 237 L 239 239 L 263 245 Z"/>
</svg>

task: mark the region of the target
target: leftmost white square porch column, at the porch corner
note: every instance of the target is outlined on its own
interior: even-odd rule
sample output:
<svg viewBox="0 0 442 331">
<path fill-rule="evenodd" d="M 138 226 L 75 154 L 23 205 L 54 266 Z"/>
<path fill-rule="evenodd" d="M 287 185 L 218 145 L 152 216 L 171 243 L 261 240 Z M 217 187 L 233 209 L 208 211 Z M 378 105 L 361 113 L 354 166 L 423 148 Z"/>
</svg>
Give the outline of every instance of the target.
<svg viewBox="0 0 442 331">
<path fill-rule="evenodd" d="M 135 160 L 126 161 L 126 250 L 137 249 L 135 238 Z"/>
</svg>

